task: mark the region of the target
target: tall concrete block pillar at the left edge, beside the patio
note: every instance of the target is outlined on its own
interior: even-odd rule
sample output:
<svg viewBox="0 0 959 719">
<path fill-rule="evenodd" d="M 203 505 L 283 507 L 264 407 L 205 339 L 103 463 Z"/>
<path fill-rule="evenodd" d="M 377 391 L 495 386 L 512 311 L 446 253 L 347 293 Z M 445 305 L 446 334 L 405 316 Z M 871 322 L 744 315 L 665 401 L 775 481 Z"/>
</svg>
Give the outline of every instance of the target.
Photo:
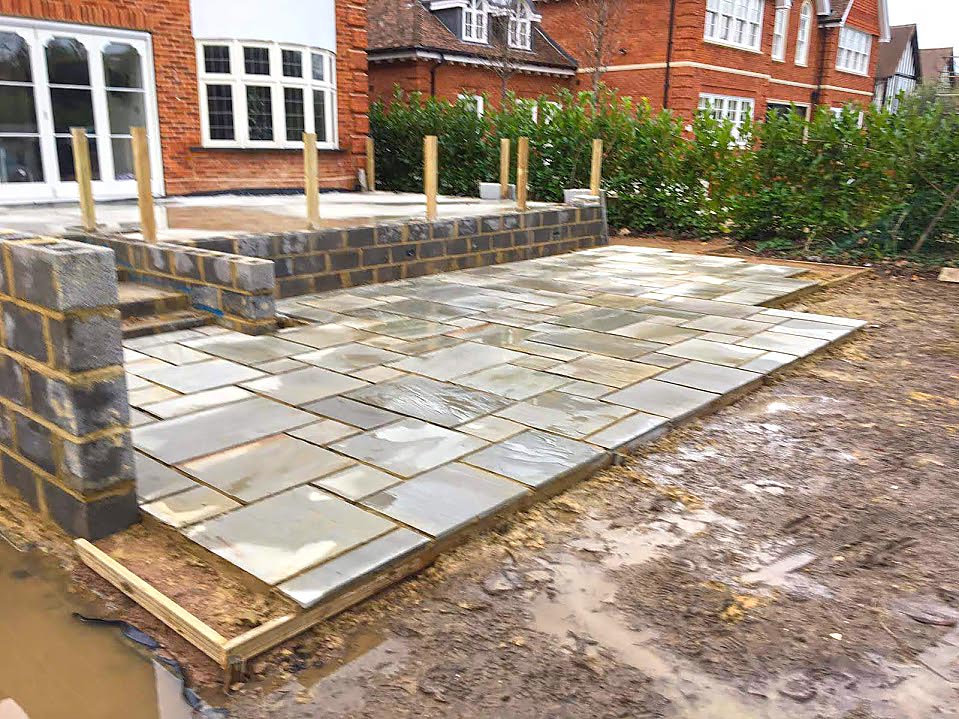
<svg viewBox="0 0 959 719">
<path fill-rule="evenodd" d="M 139 520 L 113 252 L 0 240 L 0 488 L 69 534 Z"/>
</svg>

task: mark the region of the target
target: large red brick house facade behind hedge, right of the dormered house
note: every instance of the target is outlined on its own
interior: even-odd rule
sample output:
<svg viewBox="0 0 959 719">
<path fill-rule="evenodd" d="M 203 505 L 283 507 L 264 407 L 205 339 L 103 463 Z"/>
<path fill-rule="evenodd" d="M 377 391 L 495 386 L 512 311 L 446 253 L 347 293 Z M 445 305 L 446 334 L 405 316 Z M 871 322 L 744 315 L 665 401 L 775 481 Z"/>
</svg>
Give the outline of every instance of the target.
<svg viewBox="0 0 959 719">
<path fill-rule="evenodd" d="M 543 27 L 579 61 L 580 86 L 600 78 L 622 95 L 684 116 L 709 107 L 808 113 L 872 101 L 886 0 L 542 0 Z M 593 41 L 611 8 L 602 52 Z M 577 50 L 578 49 L 578 50 Z M 577 54 L 581 53 L 581 54 Z"/>
</svg>

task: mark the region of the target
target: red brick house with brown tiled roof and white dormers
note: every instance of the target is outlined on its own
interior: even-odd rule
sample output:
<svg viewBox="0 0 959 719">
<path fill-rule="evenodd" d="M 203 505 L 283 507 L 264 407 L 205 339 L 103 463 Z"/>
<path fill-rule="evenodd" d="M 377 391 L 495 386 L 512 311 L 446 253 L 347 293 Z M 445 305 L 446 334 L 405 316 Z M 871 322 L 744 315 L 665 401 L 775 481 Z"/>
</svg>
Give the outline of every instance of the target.
<svg viewBox="0 0 959 719">
<path fill-rule="evenodd" d="M 369 0 L 368 10 L 374 99 L 399 86 L 481 104 L 504 90 L 535 98 L 576 85 L 575 61 L 543 31 L 532 0 Z"/>
</svg>

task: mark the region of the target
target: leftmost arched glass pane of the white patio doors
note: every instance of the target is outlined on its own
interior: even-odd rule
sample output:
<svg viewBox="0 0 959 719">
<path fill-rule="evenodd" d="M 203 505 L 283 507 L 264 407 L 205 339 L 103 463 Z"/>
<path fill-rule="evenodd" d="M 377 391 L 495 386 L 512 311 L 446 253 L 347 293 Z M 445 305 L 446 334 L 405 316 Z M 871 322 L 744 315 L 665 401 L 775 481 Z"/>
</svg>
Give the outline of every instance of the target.
<svg viewBox="0 0 959 719">
<path fill-rule="evenodd" d="M 0 185 L 43 181 L 30 44 L 0 31 Z"/>
</svg>

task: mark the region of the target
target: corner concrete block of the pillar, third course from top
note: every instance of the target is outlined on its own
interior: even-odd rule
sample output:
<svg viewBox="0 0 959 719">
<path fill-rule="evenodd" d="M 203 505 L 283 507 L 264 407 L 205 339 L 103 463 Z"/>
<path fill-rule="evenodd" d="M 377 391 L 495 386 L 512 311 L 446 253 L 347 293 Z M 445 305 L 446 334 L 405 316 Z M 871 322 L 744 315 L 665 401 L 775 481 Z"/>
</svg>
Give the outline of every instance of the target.
<svg viewBox="0 0 959 719">
<path fill-rule="evenodd" d="M 123 376 L 72 385 L 38 372 L 29 371 L 29 375 L 33 411 L 71 434 L 80 436 L 130 423 Z"/>
</svg>

